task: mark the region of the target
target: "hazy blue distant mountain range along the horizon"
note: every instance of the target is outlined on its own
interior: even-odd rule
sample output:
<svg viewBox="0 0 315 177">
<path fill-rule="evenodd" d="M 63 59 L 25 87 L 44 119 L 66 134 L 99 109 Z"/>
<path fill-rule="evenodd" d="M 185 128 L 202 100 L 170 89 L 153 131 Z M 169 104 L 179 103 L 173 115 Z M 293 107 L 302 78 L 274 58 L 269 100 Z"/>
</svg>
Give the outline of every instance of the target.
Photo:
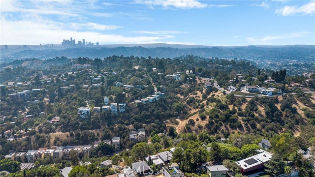
<svg viewBox="0 0 315 177">
<path fill-rule="evenodd" d="M 48 45 L 47 45 L 48 46 Z M 218 57 L 225 59 L 297 59 L 301 61 L 315 61 L 314 45 L 287 45 L 287 46 L 198 46 L 198 45 L 172 45 L 172 44 L 125 44 L 125 45 L 100 45 L 93 48 L 67 48 L 60 45 L 43 46 L 8 46 L 16 50 L 4 49 L 1 46 L 1 62 L 9 62 L 15 59 L 37 58 L 51 59 L 54 57 L 89 57 L 105 58 L 108 56 L 137 56 L 174 58 L 184 55 L 200 57 Z M 18 50 L 20 49 L 20 50 Z"/>
</svg>

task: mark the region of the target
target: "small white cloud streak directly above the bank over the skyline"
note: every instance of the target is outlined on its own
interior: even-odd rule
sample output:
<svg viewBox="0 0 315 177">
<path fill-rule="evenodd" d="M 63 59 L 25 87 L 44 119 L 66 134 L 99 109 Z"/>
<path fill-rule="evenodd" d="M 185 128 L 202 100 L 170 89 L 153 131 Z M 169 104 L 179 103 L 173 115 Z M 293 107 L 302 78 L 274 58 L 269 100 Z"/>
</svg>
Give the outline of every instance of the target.
<svg viewBox="0 0 315 177">
<path fill-rule="evenodd" d="M 86 30 L 111 30 L 111 29 L 119 29 L 122 27 L 115 25 L 101 25 L 96 23 L 70 23 L 70 28 L 74 30 L 86 29 Z"/>
</svg>

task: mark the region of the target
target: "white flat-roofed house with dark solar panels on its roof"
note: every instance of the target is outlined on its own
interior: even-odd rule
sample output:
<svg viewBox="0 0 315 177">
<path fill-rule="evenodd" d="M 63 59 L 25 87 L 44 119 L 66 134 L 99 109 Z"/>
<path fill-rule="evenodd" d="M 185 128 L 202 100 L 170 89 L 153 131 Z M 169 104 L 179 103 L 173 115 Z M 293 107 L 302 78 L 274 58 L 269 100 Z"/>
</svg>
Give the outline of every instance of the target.
<svg viewBox="0 0 315 177">
<path fill-rule="evenodd" d="M 241 173 L 243 175 L 249 175 L 260 172 L 264 169 L 264 163 L 268 162 L 272 158 L 272 154 L 269 152 L 261 152 L 252 157 L 240 160 L 236 162 L 241 167 Z"/>
</svg>

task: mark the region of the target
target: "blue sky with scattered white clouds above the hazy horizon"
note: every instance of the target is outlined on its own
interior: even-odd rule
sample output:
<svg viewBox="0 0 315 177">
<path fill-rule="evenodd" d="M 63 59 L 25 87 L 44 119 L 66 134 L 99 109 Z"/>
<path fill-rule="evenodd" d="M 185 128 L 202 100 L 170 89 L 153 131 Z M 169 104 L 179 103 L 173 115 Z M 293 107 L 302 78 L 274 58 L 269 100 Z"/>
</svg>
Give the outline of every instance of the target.
<svg viewBox="0 0 315 177">
<path fill-rule="evenodd" d="M 314 0 L 1 0 L 0 43 L 315 45 Z"/>
</svg>

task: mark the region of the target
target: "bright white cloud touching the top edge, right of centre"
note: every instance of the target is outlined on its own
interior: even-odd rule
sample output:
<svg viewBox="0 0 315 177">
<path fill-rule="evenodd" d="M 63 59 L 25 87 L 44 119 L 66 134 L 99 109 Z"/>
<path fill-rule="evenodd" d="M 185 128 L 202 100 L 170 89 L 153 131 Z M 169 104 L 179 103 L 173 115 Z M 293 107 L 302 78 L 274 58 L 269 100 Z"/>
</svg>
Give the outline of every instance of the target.
<svg viewBox="0 0 315 177">
<path fill-rule="evenodd" d="M 205 8 L 208 6 L 208 4 L 197 0 L 135 0 L 135 3 L 149 5 L 150 7 L 162 6 L 180 9 Z"/>
</svg>

